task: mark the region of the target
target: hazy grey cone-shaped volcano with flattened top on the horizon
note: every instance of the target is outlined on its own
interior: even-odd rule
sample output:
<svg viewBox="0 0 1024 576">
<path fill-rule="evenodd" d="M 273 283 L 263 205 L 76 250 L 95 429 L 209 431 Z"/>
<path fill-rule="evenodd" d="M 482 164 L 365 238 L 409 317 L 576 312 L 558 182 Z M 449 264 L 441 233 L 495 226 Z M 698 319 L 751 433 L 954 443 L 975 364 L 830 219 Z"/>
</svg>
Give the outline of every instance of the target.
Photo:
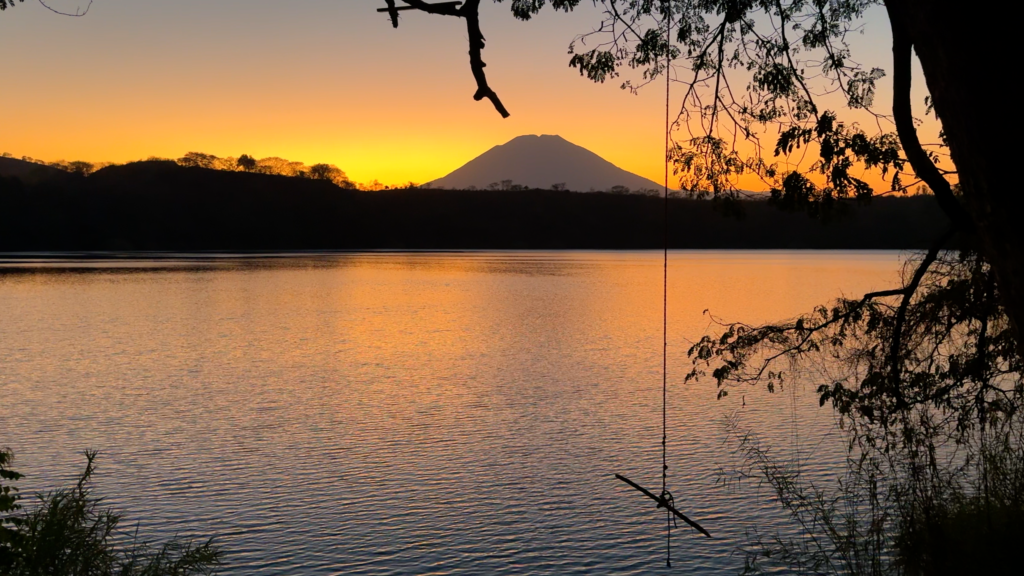
<svg viewBox="0 0 1024 576">
<path fill-rule="evenodd" d="M 578 192 L 608 191 L 613 187 L 634 191 L 662 189 L 662 184 L 627 172 L 561 136 L 547 134 L 512 138 L 429 186 L 446 190 L 484 189 L 493 183 L 501 187 L 503 180 L 542 190 L 564 184 L 565 190 Z"/>
</svg>

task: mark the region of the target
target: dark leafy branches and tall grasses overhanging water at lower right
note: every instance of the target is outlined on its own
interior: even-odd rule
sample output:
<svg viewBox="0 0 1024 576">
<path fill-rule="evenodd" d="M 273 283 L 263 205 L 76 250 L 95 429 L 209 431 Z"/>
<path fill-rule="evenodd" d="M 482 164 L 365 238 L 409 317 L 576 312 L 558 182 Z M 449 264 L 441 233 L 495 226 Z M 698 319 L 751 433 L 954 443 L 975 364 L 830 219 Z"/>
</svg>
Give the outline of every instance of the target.
<svg viewBox="0 0 1024 576">
<path fill-rule="evenodd" d="M 722 324 L 690 349 L 691 378 L 790 385 L 812 371 L 849 439 L 836 487 L 801 478 L 755 436 L 744 474 L 767 482 L 801 537 L 756 534 L 748 572 L 983 574 L 1017 562 L 1024 536 L 1022 359 L 991 268 L 933 248 L 903 287 L 793 321 Z"/>
</svg>

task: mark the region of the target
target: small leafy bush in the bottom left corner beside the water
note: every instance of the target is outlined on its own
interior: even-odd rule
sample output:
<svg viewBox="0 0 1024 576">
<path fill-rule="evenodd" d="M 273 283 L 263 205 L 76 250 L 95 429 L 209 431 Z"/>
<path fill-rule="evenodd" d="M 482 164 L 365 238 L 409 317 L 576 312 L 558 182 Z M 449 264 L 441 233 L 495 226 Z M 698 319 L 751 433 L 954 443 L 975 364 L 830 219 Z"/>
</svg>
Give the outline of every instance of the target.
<svg viewBox="0 0 1024 576">
<path fill-rule="evenodd" d="M 213 574 L 220 550 L 209 539 L 180 538 L 153 545 L 126 534 L 120 513 L 105 508 L 89 487 L 95 452 L 71 488 L 39 494 L 22 504 L 10 468 L 13 455 L 0 450 L 0 574 L 10 576 L 189 576 Z"/>
</svg>

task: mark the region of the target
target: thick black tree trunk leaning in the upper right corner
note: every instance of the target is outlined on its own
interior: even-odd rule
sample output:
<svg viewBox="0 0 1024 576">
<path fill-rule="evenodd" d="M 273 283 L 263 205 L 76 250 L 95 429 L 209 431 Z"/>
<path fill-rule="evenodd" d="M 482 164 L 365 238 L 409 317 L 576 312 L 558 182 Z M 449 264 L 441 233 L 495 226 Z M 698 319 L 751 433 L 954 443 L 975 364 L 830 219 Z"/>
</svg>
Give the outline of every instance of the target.
<svg viewBox="0 0 1024 576">
<path fill-rule="evenodd" d="M 1024 356 L 1024 221 L 1017 202 L 1017 51 L 1006 47 L 1015 16 L 981 0 L 887 0 L 902 20 L 925 72 L 956 166 L 974 237 L 995 272 L 999 296 Z M 1007 66 L 996 70 L 996 58 Z M 990 72 L 992 71 L 992 72 Z M 916 102 L 915 102 L 916 104 Z M 923 104 L 923 102 L 922 102 Z"/>
</svg>

